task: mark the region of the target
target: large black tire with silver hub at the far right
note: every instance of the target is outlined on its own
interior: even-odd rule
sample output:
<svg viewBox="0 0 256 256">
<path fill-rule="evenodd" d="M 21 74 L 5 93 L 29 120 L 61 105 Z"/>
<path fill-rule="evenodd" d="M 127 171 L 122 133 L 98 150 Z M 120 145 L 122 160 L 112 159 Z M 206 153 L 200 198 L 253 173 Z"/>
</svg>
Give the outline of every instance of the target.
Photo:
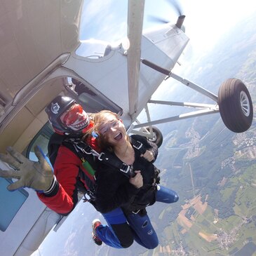
<svg viewBox="0 0 256 256">
<path fill-rule="evenodd" d="M 239 79 L 227 79 L 220 86 L 218 105 L 222 121 L 234 133 L 243 133 L 252 124 L 252 99 Z"/>
</svg>

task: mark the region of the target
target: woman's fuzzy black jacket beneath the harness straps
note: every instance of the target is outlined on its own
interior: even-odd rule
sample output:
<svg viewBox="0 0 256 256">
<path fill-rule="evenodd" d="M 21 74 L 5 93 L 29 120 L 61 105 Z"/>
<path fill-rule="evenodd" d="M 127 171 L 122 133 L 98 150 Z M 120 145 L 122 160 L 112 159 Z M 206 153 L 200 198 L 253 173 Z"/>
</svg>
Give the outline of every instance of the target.
<svg viewBox="0 0 256 256">
<path fill-rule="evenodd" d="M 135 140 L 142 142 L 145 149 L 151 151 L 154 159 L 158 154 L 158 148 L 153 142 L 149 142 L 145 137 L 132 135 Z M 114 153 L 112 153 L 114 154 Z M 95 173 L 95 208 L 100 213 L 107 213 L 114 208 L 122 207 L 129 209 L 133 204 L 144 204 L 142 196 L 145 191 L 152 187 L 155 177 L 155 166 L 140 156 L 140 152 L 135 150 L 135 161 L 133 170 L 140 170 L 143 177 L 143 187 L 137 189 L 130 184 L 129 178 L 123 175 L 117 168 L 109 167 L 105 163 L 99 162 Z M 151 198 L 150 203 L 154 198 Z"/>
</svg>

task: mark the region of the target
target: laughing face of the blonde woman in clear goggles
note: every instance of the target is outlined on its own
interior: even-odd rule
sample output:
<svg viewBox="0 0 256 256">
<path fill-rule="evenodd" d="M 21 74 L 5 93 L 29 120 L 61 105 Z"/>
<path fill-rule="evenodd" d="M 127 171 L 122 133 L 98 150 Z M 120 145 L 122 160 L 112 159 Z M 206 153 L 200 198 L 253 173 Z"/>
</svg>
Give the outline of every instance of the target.
<svg viewBox="0 0 256 256">
<path fill-rule="evenodd" d="M 113 146 L 126 142 L 126 129 L 123 126 L 123 122 L 120 119 L 116 119 L 113 114 L 105 114 L 105 118 L 102 119 L 102 124 L 98 130 L 106 142 Z"/>
</svg>

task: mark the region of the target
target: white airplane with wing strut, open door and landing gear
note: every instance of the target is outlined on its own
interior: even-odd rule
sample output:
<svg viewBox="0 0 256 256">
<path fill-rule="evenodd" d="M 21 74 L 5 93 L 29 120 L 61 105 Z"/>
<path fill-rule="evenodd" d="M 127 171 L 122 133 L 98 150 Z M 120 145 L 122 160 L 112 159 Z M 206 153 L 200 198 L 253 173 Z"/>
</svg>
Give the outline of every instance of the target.
<svg viewBox="0 0 256 256">
<path fill-rule="evenodd" d="M 82 7 L 83 0 L 0 2 L 1 153 L 12 146 L 34 159 L 34 145 L 39 144 L 47 154 L 53 130 L 44 108 L 60 94 L 74 97 L 88 112 L 111 109 L 121 114 L 129 133 L 142 133 L 159 146 L 163 137 L 151 126 L 166 121 L 220 112 L 230 130 L 241 133 L 250 128 L 252 100 L 242 81 L 228 79 L 215 95 L 171 72 L 189 42 L 182 25 L 184 15 L 176 24 L 142 32 L 144 0 L 130 0 L 129 40 L 112 46 L 96 40 L 79 41 Z M 95 47 L 102 54 L 90 50 Z M 79 55 L 81 48 L 86 50 L 83 56 Z M 168 77 L 206 95 L 213 104 L 151 100 Z M 83 92 L 76 93 L 76 83 L 83 83 Z M 196 110 L 152 121 L 150 103 Z M 143 109 L 146 123 L 137 120 Z M 0 162 L 0 168 L 6 169 L 6 163 Z M 61 217 L 46 208 L 32 189 L 8 191 L 10 182 L 0 178 L 1 255 L 31 255 Z"/>
</svg>

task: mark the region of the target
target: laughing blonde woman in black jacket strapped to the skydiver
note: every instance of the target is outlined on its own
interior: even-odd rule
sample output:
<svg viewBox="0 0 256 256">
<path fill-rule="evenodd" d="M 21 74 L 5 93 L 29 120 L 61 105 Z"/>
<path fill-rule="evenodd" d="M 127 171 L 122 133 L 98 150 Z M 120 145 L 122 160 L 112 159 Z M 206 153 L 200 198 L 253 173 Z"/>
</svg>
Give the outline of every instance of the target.
<svg viewBox="0 0 256 256">
<path fill-rule="evenodd" d="M 109 226 L 93 221 L 93 240 L 114 248 L 128 248 L 133 240 L 148 249 L 159 241 L 146 207 L 156 201 L 174 203 L 175 191 L 159 185 L 159 170 L 152 163 L 158 154 L 156 144 L 140 135 L 128 136 L 119 116 L 102 111 L 94 116 L 97 141 L 102 154 L 112 164 L 98 161 L 95 169 L 95 201 Z M 126 172 L 123 166 L 128 166 Z"/>
</svg>

